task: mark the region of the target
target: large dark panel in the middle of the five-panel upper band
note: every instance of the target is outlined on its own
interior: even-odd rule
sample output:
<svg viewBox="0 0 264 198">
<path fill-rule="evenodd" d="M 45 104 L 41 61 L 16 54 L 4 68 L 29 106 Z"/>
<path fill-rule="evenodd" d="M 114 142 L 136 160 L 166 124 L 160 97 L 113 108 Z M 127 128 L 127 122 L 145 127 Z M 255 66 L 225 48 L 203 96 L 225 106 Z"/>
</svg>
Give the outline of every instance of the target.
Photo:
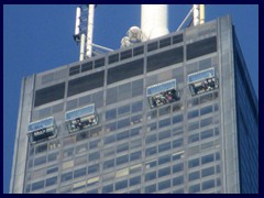
<svg viewBox="0 0 264 198">
<path fill-rule="evenodd" d="M 143 58 L 108 70 L 108 85 L 143 74 Z"/>
</svg>

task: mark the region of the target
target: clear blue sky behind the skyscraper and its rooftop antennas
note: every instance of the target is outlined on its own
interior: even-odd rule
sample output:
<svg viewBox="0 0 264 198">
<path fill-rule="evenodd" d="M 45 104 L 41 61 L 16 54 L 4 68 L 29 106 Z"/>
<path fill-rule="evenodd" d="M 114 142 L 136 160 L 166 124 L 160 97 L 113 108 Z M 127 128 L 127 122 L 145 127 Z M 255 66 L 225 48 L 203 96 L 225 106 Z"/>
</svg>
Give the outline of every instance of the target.
<svg viewBox="0 0 264 198">
<path fill-rule="evenodd" d="M 191 6 L 169 6 L 169 31 L 175 31 Z M 9 191 L 22 77 L 77 62 L 73 40 L 75 4 L 3 6 L 3 193 Z M 230 14 L 254 89 L 258 92 L 258 7 L 206 6 L 206 21 Z M 94 41 L 113 50 L 130 26 L 140 26 L 139 4 L 99 4 Z M 258 94 L 257 94 L 258 96 Z"/>
</svg>

